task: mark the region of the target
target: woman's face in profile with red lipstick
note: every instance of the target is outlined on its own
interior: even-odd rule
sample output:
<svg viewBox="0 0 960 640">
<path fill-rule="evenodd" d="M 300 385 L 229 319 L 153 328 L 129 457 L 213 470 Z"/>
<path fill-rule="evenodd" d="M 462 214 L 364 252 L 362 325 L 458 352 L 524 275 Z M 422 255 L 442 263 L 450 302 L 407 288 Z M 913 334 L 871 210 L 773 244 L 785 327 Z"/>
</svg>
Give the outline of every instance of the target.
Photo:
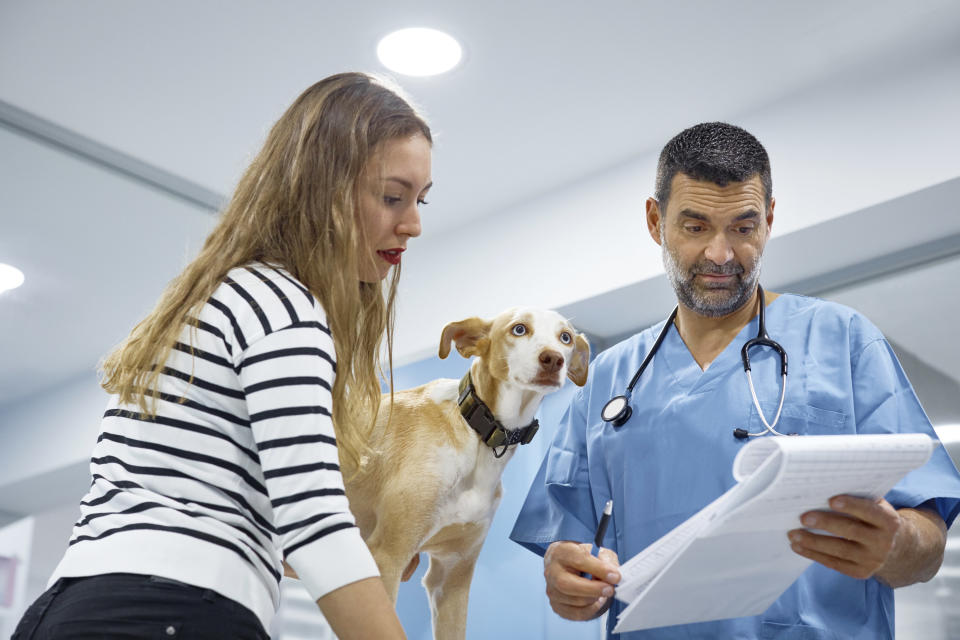
<svg viewBox="0 0 960 640">
<path fill-rule="evenodd" d="M 432 185 L 430 143 L 422 135 L 384 142 L 360 175 L 360 279 L 383 280 L 420 235 L 420 211 Z"/>
</svg>

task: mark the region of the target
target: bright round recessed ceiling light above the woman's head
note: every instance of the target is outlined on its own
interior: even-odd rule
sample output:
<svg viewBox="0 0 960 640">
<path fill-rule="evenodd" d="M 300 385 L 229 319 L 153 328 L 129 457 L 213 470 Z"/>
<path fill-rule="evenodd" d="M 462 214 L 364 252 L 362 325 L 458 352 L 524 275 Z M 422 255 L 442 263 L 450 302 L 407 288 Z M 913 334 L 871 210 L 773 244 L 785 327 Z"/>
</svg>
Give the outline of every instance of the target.
<svg viewBox="0 0 960 640">
<path fill-rule="evenodd" d="M 457 66 L 463 50 L 451 36 L 436 29 L 400 29 L 377 44 L 380 62 L 407 76 L 433 76 Z"/>
</svg>

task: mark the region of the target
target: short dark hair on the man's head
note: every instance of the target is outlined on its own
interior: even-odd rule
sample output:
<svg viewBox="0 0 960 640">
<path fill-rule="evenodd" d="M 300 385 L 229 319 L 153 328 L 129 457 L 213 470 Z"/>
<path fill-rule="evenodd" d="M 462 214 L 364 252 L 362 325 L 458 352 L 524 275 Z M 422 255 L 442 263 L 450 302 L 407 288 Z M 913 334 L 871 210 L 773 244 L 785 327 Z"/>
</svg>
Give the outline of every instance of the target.
<svg viewBox="0 0 960 640">
<path fill-rule="evenodd" d="M 660 152 L 655 196 L 666 209 L 673 176 L 683 173 L 724 187 L 760 176 L 767 206 L 773 197 L 770 158 L 760 141 L 726 122 L 703 122 L 675 135 Z"/>
</svg>

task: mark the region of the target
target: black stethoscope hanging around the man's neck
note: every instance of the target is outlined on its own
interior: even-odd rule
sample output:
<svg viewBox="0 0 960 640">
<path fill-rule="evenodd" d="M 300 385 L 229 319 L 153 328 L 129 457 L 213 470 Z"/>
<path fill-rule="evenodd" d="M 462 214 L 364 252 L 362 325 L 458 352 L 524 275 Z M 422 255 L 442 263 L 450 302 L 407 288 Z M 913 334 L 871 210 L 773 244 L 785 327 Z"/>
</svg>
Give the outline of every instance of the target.
<svg viewBox="0 0 960 640">
<path fill-rule="evenodd" d="M 780 421 L 780 412 L 783 410 L 783 399 L 787 395 L 787 352 L 784 351 L 783 347 L 781 347 L 775 340 L 771 340 L 770 336 L 767 335 L 765 312 L 766 301 L 763 296 L 763 287 L 760 285 L 757 285 L 757 293 L 759 294 L 760 298 L 760 324 L 757 328 L 757 337 L 747 340 L 747 342 L 743 345 L 743 349 L 740 350 L 740 358 L 743 360 L 743 370 L 747 374 L 747 384 L 750 385 L 750 395 L 753 396 L 753 405 L 757 408 L 757 413 L 760 414 L 760 420 L 763 422 L 765 430 L 758 433 L 750 433 L 746 429 L 734 429 L 733 435 L 741 440 L 751 436 L 766 435 L 768 433 L 778 436 L 784 435 L 777 431 L 775 427 Z M 663 325 L 663 329 L 660 330 L 660 335 L 657 336 L 656 341 L 653 343 L 653 347 L 647 353 L 646 357 L 644 357 L 643 362 L 640 363 L 640 368 L 637 369 L 633 379 L 630 380 L 630 384 L 627 385 L 627 392 L 622 396 L 615 396 L 611 398 L 607 404 L 603 405 L 603 410 L 600 412 L 600 417 L 603 418 L 604 422 L 613 423 L 614 427 L 622 427 L 624 424 L 626 424 L 627 420 L 630 419 L 630 416 L 633 415 L 633 409 L 630 407 L 630 396 L 633 393 L 633 388 L 640 380 L 643 370 L 646 369 L 647 365 L 650 364 L 650 361 L 653 360 L 653 356 L 656 355 L 657 349 L 659 349 L 660 345 L 663 343 L 663 339 L 667 337 L 667 333 L 670 331 L 670 327 L 673 325 L 673 321 L 677 317 L 678 309 L 679 307 L 674 307 L 673 313 L 671 313 L 670 317 L 667 318 L 667 322 Z M 780 406 L 777 407 L 777 415 L 774 416 L 772 424 L 767 422 L 767 418 L 763 414 L 763 409 L 760 407 L 760 401 L 757 399 L 757 390 L 753 386 L 753 376 L 750 374 L 750 349 L 753 347 L 770 347 L 780 356 Z"/>
</svg>

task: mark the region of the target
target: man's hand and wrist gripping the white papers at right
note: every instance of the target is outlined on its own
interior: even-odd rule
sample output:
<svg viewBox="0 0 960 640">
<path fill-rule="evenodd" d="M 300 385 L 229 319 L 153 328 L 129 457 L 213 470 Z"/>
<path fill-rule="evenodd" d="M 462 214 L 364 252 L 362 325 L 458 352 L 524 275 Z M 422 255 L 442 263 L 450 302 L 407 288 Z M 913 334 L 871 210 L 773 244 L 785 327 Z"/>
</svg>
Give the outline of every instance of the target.
<svg viewBox="0 0 960 640">
<path fill-rule="evenodd" d="M 946 526 L 927 509 L 894 509 L 884 499 L 835 496 L 827 511 L 800 516 L 804 529 L 788 533 L 791 548 L 844 575 L 876 577 L 891 587 L 932 578 L 943 562 Z"/>
</svg>

